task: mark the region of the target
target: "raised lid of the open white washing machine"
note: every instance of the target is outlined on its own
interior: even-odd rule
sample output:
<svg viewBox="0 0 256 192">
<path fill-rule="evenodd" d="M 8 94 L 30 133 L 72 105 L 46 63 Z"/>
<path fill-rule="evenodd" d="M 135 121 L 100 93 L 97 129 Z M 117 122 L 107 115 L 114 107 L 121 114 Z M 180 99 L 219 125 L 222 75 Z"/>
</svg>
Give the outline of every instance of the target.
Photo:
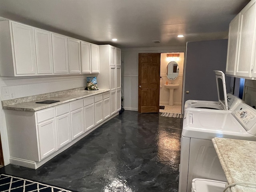
<svg viewBox="0 0 256 192">
<path fill-rule="evenodd" d="M 219 104 L 223 107 L 224 110 L 228 110 L 225 74 L 222 71 L 215 70 L 214 72 L 216 75 Z"/>
</svg>

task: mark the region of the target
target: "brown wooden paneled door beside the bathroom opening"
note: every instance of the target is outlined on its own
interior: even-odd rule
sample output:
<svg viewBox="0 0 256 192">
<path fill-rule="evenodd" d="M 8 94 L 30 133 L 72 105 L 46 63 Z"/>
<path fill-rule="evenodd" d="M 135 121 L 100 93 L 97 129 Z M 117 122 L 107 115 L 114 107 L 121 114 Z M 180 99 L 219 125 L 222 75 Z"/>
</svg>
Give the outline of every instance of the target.
<svg viewBox="0 0 256 192">
<path fill-rule="evenodd" d="M 139 53 L 138 112 L 159 112 L 160 53 Z"/>
</svg>

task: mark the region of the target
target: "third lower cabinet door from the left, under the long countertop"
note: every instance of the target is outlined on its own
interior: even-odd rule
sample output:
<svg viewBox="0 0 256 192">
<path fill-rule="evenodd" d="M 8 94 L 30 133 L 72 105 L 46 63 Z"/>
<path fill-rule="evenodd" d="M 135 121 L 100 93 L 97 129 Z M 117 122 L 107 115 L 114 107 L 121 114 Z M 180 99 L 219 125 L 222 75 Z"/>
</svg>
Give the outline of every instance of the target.
<svg viewBox="0 0 256 192">
<path fill-rule="evenodd" d="M 84 109 L 79 108 L 70 112 L 72 140 L 84 133 Z"/>
</svg>

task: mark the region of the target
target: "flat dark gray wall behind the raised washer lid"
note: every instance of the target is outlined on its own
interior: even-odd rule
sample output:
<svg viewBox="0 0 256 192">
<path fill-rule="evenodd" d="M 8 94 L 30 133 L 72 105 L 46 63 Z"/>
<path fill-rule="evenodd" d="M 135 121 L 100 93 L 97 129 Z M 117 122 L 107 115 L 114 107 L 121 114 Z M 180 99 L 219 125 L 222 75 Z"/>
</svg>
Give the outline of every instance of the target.
<svg viewBox="0 0 256 192">
<path fill-rule="evenodd" d="M 187 43 L 184 101 L 218 101 L 213 70 L 225 73 L 227 50 L 227 39 Z M 226 76 L 227 93 L 230 92 L 230 80 Z M 186 90 L 189 94 L 186 94 Z"/>
</svg>

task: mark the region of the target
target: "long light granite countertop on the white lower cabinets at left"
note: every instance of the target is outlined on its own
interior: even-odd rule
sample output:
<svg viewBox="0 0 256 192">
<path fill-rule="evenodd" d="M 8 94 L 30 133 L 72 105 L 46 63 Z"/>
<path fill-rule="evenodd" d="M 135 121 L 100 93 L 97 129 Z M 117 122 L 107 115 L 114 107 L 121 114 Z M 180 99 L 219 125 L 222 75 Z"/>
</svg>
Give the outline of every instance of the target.
<svg viewBox="0 0 256 192">
<path fill-rule="evenodd" d="M 34 111 L 46 109 L 49 107 L 57 106 L 60 104 L 64 104 L 70 101 L 104 93 L 107 91 L 109 91 L 109 89 L 84 90 L 84 88 L 76 88 L 71 90 L 40 94 L 40 95 L 29 96 L 24 98 L 4 100 L 2 101 L 2 107 L 3 109 L 8 109 L 8 110 L 34 112 Z M 51 104 L 36 103 L 38 101 L 43 101 L 43 100 L 59 100 L 60 102 L 55 102 Z"/>
</svg>

